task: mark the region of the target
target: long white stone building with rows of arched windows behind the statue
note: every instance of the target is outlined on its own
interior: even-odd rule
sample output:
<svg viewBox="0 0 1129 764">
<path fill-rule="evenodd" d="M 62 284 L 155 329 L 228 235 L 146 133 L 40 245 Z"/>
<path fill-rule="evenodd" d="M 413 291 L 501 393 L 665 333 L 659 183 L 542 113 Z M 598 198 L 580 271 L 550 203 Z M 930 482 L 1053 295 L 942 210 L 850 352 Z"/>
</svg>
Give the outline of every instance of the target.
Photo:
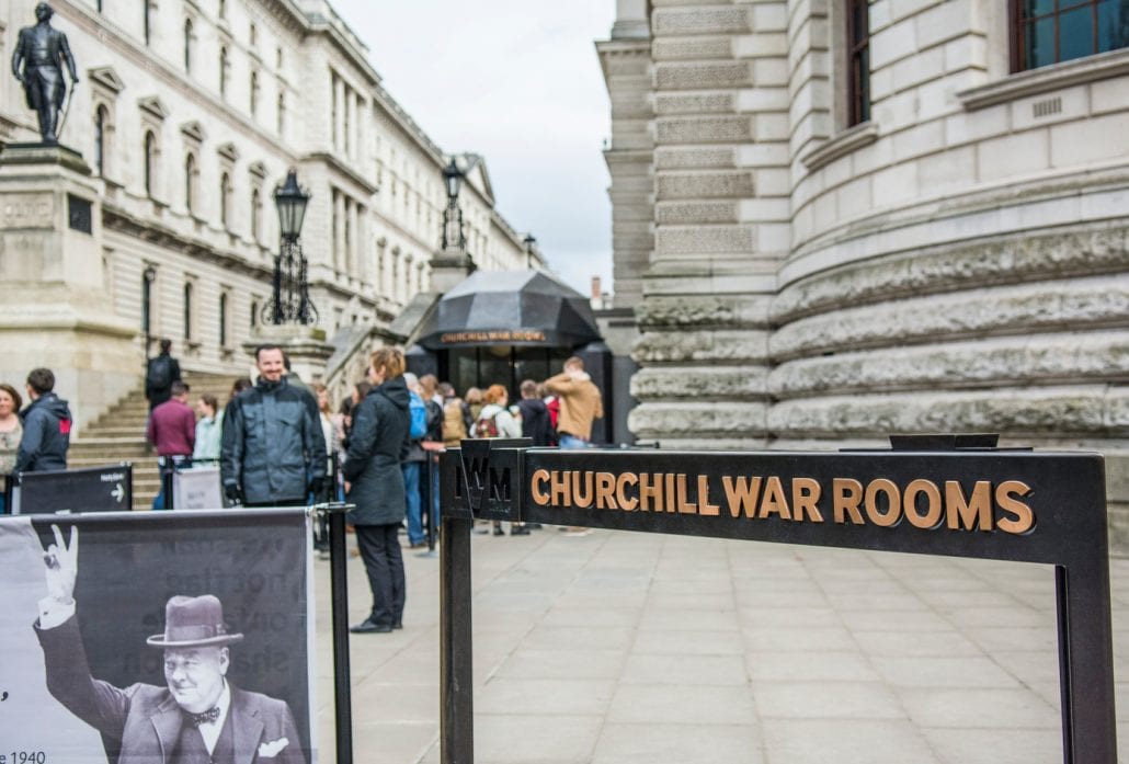
<svg viewBox="0 0 1129 764">
<path fill-rule="evenodd" d="M 17 30 L 35 21 L 35 5 L 0 8 L 6 65 Z M 0 322 L 0 335 L 18 330 L 30 343 L 19 358 L 6 353 L 5 379 L 21 380 L 37 363 L 58 366 L 60 388 L 81 398 L 81 425 L 135 388 L 160 336 L 174 341 L 190 370 L 245 372 L 242 345 L 263 323 L 278 252 L 273 191 L 290 167 L 313 194 L 301 240 L 327 340 L 379 334 L 429 289 L 448 157 L 383 88 L 364 42 L 329 3 L 52 6 L 82 80 L 60 141 L 91 169 L 102 308 L 129 334 L 131 350 L 102 365 L 115 368 L 84 369 L 80 358 L 68 368 L 34 351 L 34 326 L 9 323 L 6 333 Z M 34 113 L 6 72 L 0 144 L 36 140 Z M 460 204 L 480 267 L 527 266 L 524 235 L 495 208 L 483 163 Z M 17 225 L 9 217 L 0 227 Z M 51 343 L 41 335 L 38 344 Z"/>
</svg>

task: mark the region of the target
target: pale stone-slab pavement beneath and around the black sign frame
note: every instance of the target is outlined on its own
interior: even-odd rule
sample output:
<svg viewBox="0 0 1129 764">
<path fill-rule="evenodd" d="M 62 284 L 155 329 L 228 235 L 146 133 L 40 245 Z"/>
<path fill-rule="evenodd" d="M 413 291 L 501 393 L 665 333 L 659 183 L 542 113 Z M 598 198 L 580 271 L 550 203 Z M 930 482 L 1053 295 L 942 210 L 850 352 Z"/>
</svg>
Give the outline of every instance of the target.
<svg viewBox="0 0 1129 764">
<path fill-rule="evenodd" d="M 1062 762 L 1049 567 L 551 527 L 472 555 L 478 764 Z M 439 762 L 439 561 L 404 560 L 404 630 L 351 636 L 358 764 Z M 1111 573 L 1129 762 L 1129 560 Z M 350 623 L 369 603 L 350 559 Z"/>
</svg>

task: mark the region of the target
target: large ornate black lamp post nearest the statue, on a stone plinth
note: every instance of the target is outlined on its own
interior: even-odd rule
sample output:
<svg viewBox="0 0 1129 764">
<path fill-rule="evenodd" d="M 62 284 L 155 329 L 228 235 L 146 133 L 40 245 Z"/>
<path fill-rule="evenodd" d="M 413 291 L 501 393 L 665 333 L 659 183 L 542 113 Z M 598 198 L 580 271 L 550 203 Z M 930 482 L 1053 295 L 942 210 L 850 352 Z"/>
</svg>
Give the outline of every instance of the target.
<svg viewBox="0 0 1129 764">
<path fill-rule="evenodd" d="M 309 299 L 306 255 L 298 242 L 309 197 L 309 192 L 298 185 L 294 169 L 287 173 L 286 183 L 274 188 L 282 242 L 274 256 L 273 291 L 263 308 L 263 320 L 275 326 L 317 323 L 317 309 Z"/>
</svg>

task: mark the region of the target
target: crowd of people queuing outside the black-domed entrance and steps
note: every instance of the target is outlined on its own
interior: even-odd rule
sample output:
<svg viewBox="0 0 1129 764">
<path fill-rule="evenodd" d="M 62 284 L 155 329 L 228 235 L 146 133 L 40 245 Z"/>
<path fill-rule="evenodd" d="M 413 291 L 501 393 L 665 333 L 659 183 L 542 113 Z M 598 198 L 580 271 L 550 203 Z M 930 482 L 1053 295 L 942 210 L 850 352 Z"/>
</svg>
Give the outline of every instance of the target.
<svg viewBox="0 0 1129 764">
<path fill-rule="evenodd" d="M 210 394 L 190 405 L 191 388 L 170 351 L 172 343 L 163 341 L 146 379 L 146 436 L 163 473 L 218 462 L 230 504 L 307 506 L 327 499 L 355 504 L 347 520 L 373 592 L 368 617 L 350 629 L 358 634 L 403 625 L 399 534 L 406 525 L 408 545 L 418 548 L 426 546 L 425 510 L 432 527 L 439 525 L 438 471 L 425 467 L 435 454 L 464 438 L 525 437 L 534 446 L 584 448 L 593 421 L 603 415 L 599 390 L 578 358 L 542 384 L 523 381 L 520 399 L 510 405 L 500 384 L 470 388 L 461 398 L 434 375 L 417 378 L 405 371 L 403 352 L 386 346 L 373 353 L 366 379 L 334 412 L 325 386 L 307 387 L 289 371 L 282 349 L 269 344 L 255 351 L 259 379 L 237 380 L 226 407 Z M 30 403 L 23 409 L 19 392 L 0 384 L 0 471 L 67 467 L 71 415 L 54 394 L 54 381 L 49 369 L 33 370 L 26 383 Z M 154 509 L 164 507 L 161 491 Z M 515 522 L 509 534 L 535 528 Z M 506 535 L 500 524 L 493 533 Z M 327 551 L 324 527 L 317 536 Z"/>
</svg>

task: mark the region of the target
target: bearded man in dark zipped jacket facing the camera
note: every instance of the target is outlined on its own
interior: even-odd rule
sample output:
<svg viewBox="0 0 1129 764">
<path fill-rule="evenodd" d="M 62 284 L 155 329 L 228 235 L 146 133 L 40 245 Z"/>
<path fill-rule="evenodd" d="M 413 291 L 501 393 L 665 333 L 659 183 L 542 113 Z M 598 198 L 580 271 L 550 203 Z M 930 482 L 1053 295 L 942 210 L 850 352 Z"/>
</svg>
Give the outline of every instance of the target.
<svg viewBox="0 0 1129 764">
<path fill-rule="evenodd" d="M 224 413 L 224 494 L 247 507 L 300 507 L 325 483 L 325 436 L 317 403 L 283 378 L 282 349 L 255 351 L 259 383 Z"/>
</svg>

